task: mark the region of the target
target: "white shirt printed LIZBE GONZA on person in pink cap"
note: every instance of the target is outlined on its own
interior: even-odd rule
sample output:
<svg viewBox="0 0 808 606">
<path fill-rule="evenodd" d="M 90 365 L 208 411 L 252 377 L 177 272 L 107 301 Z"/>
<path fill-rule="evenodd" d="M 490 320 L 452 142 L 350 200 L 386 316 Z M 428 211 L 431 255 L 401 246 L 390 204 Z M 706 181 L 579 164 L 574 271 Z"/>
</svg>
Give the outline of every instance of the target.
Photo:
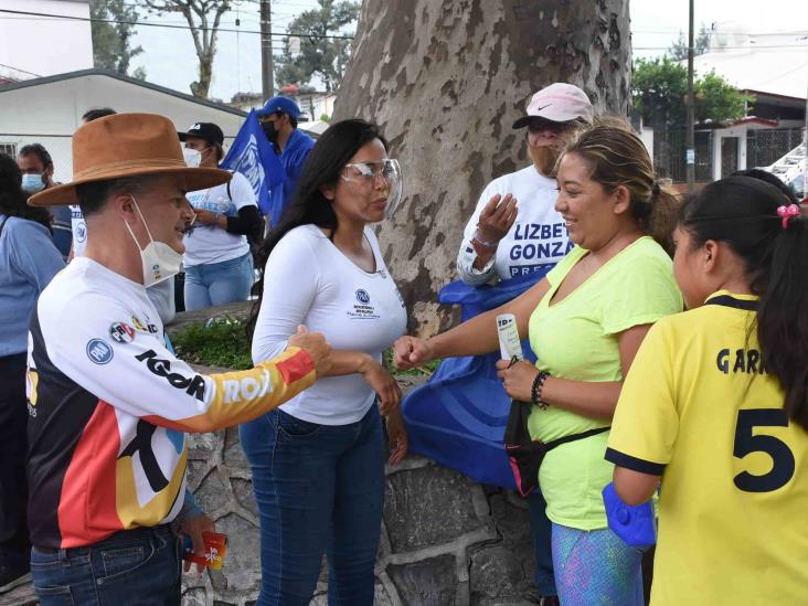
<svg viewBox="0 0 808 606">
<path fill-rule="evenodd" d="M 496 274 L 499 279 L 523 276 L 533 272 L 546 274 L 573 247 L 561 214 L 555 211 L 559 196 L 555 179 L 541 174 L 532 164 L 491 181 L 480 194 L 471 219 L 466 224 L 457 272 L 466 284 L 486 284 Z M 517 220 L 499 242 L 497 254 L 478 270 L 474 268 L 477 253 L 471 236 L 477 231 L 480 212 L 489 200 L 510 193 L 519 203 Z"/>
</svg>

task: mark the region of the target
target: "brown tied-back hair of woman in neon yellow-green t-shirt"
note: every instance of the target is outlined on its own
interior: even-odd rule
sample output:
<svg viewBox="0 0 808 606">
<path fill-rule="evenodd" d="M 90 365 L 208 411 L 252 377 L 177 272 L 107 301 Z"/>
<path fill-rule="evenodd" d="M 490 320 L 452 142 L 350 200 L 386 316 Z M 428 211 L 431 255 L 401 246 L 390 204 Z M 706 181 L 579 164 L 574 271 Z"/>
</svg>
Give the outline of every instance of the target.
<svg viewBox="0 0 808 606">
<path fill-rule="evenodd" d="M 630 213 L 642 232 L 673 256 L 673 227 L 679 196 L 653 179 L 653 162 L 642 140 L 630 127 L 607 120 L 584 130 L 565 149 L 581 156 L 592 168 L 589 178 L 607 193 L 619 185 L 628 190 Z"/>
</svg>

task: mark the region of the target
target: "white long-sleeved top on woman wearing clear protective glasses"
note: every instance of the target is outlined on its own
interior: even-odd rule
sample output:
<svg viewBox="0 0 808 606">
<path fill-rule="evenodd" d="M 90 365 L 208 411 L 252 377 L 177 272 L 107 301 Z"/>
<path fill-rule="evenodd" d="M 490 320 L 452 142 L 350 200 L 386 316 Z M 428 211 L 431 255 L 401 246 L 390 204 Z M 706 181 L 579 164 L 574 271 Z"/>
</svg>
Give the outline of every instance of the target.
<svg viewBox="0 0 808 606">
<path fill-rule="evenodd" d="M 404 333 L 404 299 L 384 265 L 375 235 L 365 227 L 376 272 L 358 267 L 315 225 L 287 233 L 264 272 L 264 298 L 253 337 L 253 360 L 273 358 L 305 325 L 334 350 L 363 351 L 378 362 Z M 360 421 L 375 393 L 360 374 L 326 376 L 281 406 L 297 418 L 322 425 Z"/>
</svg>

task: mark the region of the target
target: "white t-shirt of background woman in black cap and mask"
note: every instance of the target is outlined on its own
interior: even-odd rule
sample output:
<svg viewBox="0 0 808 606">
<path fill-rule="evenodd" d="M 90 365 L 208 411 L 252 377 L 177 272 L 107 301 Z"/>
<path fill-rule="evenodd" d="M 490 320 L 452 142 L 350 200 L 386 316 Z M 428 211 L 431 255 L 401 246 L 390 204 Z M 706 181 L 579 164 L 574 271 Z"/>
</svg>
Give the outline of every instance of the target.
<svg viewBox="0 0 808 606">
<path fill-rule="evenodd" d="M 211 211 L 225 216 L 237 216 L 238 210 L 244 206 L 257 206 L 255 191 L 247 178 L 241 172 L 234 172 L 227 183 L 222 183 L 208 190 L 192 191 L 185 194 L 188 201 L 196 210 Z M 185 256 L 182 262 L 185 267 L 222 263 L 246 255 L 249 252 L 247 237 L 231 234 L 219 226 L 208 226 L 196 223 L 193 231 L 183 238 Z"/>
</svg>

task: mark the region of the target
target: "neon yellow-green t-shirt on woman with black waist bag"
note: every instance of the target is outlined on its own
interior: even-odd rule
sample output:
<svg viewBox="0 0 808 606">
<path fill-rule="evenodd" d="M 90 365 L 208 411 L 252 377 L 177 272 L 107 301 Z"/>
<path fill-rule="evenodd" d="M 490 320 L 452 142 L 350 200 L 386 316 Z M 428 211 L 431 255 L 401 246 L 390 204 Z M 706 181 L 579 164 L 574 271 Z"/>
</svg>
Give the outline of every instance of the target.
<svg viewBox="0 0 808 606">
<path fill-rule="evenodd" d="M 623 380 L 617 338 L 631 327 L 650 325 L 682 310 L 672 262 L 650 236 L 620 251 L 561 301 L 549 305 L 570 270 L 588 251 L 575 247 L 547 274 L 550 290 L 530 317 L 529 337 L 536 368 L 553 376 L 585 382 Z M 533 439 L 544 442 L 606 427 L 608 421 L 550 406 L 528 419 Z M 614 465 L 604 459 L 608 432 L 563 444 L 547 453 L 539 483 L 547 517 L 556 524 L 606 528 L 600 492 Z"/>
</svg>

